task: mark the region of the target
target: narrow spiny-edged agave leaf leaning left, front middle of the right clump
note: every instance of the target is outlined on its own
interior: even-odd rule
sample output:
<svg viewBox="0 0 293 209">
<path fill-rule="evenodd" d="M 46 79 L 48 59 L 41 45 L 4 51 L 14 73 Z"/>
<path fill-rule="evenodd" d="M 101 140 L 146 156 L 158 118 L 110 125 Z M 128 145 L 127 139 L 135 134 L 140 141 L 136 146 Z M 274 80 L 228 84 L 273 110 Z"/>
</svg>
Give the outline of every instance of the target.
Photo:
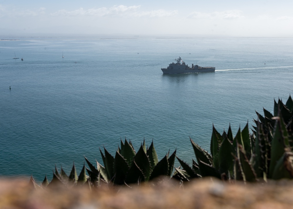
<svg viewBox="0 0 293 209">
<path fill-rule="evenodd" d="M 254 169 L 245 154 L 245 150 L 243 149 L 242 145 L 238 143 L 237 145 L 237 155 L 240 162 L 241 170 L 243 172 L 244 181 L 256 181 L 256 173 L 254 172 Z"/>
</svg>

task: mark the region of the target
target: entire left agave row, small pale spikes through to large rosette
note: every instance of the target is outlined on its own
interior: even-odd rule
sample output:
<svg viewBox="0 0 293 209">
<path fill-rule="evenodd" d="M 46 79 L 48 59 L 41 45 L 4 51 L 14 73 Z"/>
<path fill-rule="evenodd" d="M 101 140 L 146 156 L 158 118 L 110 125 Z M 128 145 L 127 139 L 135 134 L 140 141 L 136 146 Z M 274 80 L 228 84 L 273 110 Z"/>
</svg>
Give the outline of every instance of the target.
<svg viewBox="0 0 293 209">
<path fill-rule="evenodd" d="M 138 184 L 162 175 L 171 177 L 176 158 L 175 150 L 170 157 L 168 152 L 161 161 L 158 161 L 153 142 L 146 148 L 144 141 L 136 153 L 131 141 L 128 142 L 126 139 L 124 143 L 121 140 L 121 148 L 118 146 L 115 157 L 106 148 L 104 148 L 105 154 L 101 150 L 100 153 L 104 166 L 96 161 L 97 167 L 95 167 L 85 157 L 89 169 L 84 165 L 79 176 L 77 176 L 76 168 L 73 164 L 70 175 L 68 176 L 62 167 L 59 173 L 55 165 L 52 180 L 49 183 L 46 175 L 41 186 L 50 188 L 60 183 L 68 187 L 84 184 L 89 184 L 90 187 L 100 186 L 101 183 Z M 34 185 L 35 188 L 38 186 L 33 177 L 30 179 L 30 184 Z"/>
</svg>

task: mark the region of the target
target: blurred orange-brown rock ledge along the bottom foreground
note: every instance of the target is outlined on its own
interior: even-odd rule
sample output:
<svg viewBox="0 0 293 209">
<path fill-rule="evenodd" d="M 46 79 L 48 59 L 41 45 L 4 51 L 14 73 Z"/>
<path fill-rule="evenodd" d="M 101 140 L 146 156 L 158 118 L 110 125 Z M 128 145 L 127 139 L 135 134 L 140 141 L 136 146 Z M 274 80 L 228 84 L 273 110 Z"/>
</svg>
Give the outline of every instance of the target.
<svg viewBox="0 0 293 209">
<path fill-rule="evenodd" d="M 28 179 L 0 179 L 1 209 L 94 209 L 94 208 L 293 208 L 293 181 L 236 184 L 217 179 L 199 179 L 178 188 L 178 182 L 163 180 L 148 185 L 106 186 L 90 191 L 71 189 L 34 189 Z"/>
</svg>

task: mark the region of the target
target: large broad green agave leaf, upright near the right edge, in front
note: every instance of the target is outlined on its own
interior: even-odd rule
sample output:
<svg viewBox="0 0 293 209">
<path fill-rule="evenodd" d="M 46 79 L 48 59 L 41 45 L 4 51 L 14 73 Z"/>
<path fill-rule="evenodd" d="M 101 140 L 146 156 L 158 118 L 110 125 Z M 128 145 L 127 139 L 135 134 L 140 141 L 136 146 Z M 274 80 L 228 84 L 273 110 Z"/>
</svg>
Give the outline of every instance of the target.
<svg viewBox="0 0 293 209">
<path fill-rule="evenodd" d="M 269 169 L 269 178 L 272 177 L 277 161 L 285 153 L 285 148 L 289 147 L 289 141 L 287 136 L 287 129 L 282 119 L 282 115 L 280 115 L 280 117 L 277 118 L 275 121 L 275 128 L 271 142 L 271 161 Z"/>
</svg>

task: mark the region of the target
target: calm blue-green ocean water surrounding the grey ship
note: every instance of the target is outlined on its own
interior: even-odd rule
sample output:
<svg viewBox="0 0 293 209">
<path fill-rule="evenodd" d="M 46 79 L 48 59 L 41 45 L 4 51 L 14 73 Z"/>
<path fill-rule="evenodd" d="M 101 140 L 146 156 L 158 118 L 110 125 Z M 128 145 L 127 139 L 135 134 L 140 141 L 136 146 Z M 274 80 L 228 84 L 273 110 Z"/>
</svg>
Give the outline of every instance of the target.
<svg viewBox="0 0 293 209">
<path fill-rule="evenodd" d="M 164 75 L 178 56 L 216 71 Z M 189 137 L 209 150 L 213 124 L 251 128 L 255 111 L 287 101 L 292 75 L 285 38 L 0 41 L 0 175 L 79 172 L 121 138 L 191 163 Z"/>
</svg>

